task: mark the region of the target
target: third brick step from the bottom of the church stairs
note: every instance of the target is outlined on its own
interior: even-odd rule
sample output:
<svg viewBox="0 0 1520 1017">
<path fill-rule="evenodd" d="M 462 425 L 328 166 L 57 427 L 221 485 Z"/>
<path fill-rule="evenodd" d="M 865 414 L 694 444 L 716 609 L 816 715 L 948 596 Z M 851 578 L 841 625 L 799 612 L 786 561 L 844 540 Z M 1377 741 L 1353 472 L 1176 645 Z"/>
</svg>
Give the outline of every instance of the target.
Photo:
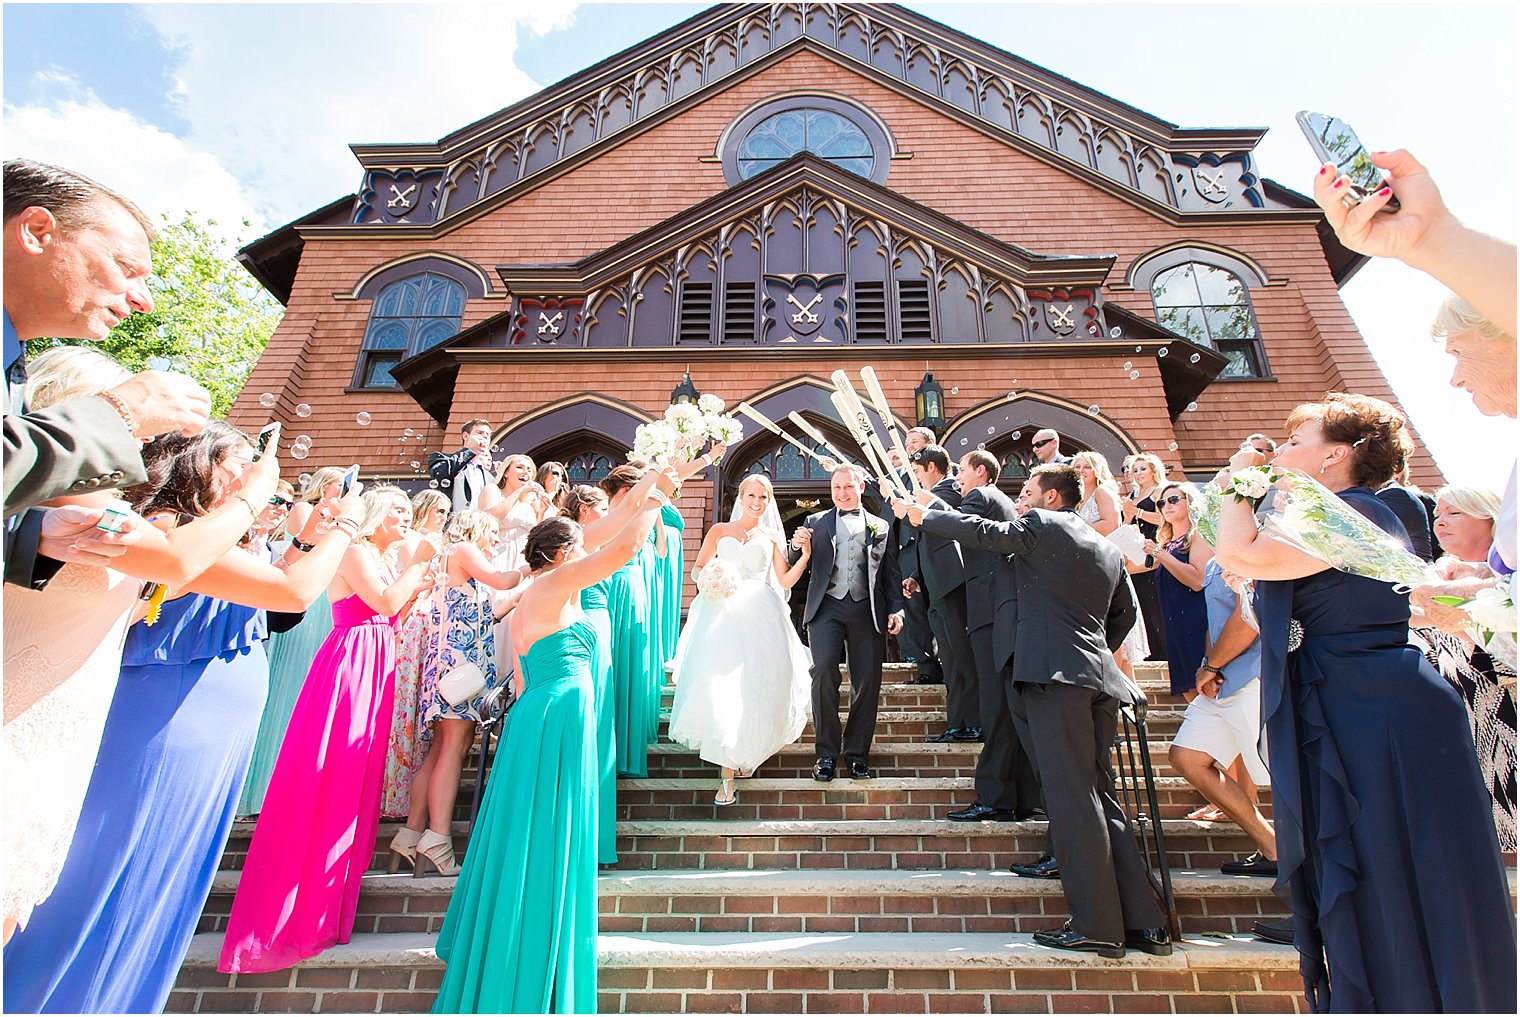
<svg viewBox="0 0 1520 1017">
<path fill-rule="evenodd" d="M 1163 819 L 1172 868 L 1213 870 L 1252 850 L 1233 822 Z M 617 824 L 620 870 L 1006 870 L 1046 845 L 1046 822 L 708 819 Z"/>
</svg>

